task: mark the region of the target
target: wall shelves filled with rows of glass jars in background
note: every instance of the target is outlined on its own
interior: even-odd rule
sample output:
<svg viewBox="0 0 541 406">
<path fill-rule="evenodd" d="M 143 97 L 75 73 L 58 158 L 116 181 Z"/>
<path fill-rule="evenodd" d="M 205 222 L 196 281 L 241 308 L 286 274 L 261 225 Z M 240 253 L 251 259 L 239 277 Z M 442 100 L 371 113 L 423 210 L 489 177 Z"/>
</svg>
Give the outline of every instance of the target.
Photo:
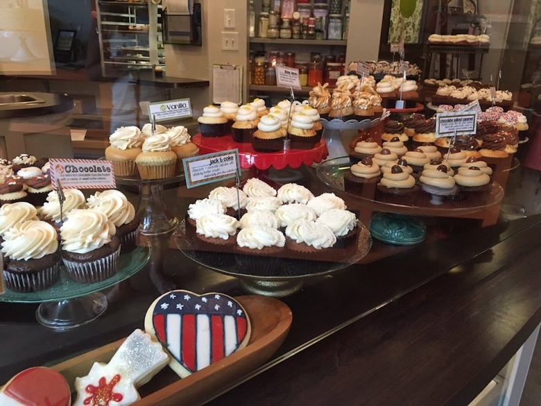
<svg viewBox="0 0 541 406">
<path fill-rule="evenodd" d="M 297 92 L 318 82 L 332 86 L 345 71 L 349 6 L 346 0 L 250 0 L 249 91 L 287 92 L 276 86 L 277 65 L 299 69 Z"/>
</svg>

